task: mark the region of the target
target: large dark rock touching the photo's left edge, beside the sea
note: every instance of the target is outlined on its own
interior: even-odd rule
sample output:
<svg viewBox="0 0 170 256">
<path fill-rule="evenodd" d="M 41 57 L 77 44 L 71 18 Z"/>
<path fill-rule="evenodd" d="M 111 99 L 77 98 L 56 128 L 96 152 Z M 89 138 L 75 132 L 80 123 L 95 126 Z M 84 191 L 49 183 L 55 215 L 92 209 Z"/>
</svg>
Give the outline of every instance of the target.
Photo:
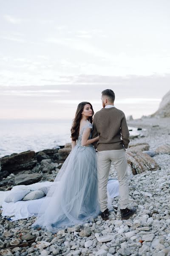
<svg viewBox="0 0 170 256">
<path fill-rule="evenodd" d="M 32 169 L 37 164 L 34 151 L 26 151 L 20 154 L 12 154 L 9 157 L 0 158 L 0 172 L 9 173 Z"/>
</svg>

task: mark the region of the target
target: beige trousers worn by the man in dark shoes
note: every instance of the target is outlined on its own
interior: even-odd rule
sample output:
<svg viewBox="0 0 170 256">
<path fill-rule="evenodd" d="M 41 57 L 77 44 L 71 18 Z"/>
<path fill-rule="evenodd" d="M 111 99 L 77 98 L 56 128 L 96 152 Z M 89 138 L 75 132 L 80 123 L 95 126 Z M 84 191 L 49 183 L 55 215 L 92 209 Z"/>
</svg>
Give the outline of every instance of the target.
<svg viewBox="0 0 170 256">
<path fill-rule="evenodd" d="M 98 193 L 101 212 L 104 212 L 108 208 L 107 183 L 111 162 L 116 169 L 119 180 L 120 209 L 125 209 L 129 201 L 129 182 L 125 149 L 99 151 L 97 158 Z"/>
</svg>

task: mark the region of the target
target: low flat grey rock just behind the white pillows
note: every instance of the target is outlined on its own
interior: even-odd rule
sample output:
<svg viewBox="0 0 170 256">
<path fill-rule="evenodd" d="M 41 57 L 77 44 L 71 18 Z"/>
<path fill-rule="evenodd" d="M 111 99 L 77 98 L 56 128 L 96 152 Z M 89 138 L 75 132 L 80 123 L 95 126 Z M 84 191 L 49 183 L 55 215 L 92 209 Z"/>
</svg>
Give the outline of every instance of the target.
<svg viewBox="0 0 170 256">
<path fill-rule="evenodd" d="M 15 185 L 30 185 L 40 181 L 41 178 L 39 173 L 17 175 L 15 177 Z"/>
</svg>

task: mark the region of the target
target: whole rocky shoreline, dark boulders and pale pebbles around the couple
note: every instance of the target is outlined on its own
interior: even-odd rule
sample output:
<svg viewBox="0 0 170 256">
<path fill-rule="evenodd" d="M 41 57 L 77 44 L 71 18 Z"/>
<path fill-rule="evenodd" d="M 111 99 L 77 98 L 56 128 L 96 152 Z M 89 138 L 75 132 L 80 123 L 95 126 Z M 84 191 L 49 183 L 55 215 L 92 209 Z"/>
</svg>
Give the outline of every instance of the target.
<svg viewBox="0 0 170 256">
<path fill-rule="evenodd" d="M 10 222 L 0 215 L 0 255 L 170 256 L 170 118 L 136 119 L 128 125 L 142 128 L 127 151 L 130 206 L 137 207 L 136 214 L 122 221 L 115 198 L 108 221 L 98 216 L 57 234 L 32 229 L 35 216 Z M 0 190 L 53 181 L 70 151 L 67 144 L 1 158 Z M 110 175 L 116 177 L 113 166 Z"/>
</svg>

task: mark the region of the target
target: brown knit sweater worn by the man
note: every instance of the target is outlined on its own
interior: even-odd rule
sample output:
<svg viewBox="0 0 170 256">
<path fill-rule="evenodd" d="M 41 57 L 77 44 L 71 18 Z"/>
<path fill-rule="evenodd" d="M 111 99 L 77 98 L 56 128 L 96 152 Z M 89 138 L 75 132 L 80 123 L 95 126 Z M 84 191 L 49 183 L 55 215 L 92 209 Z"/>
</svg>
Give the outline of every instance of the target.
<svg viewBox="0 0 170 256">
<path fill-rule="evenodd" d="M 94 143 L 98 151 L 128 148 L 129 129 L 123 111 L 113 108 L 102 108 L 96 112 L 93 120 L 92 138 L 99 134 Z M 121 139 L 122 135 L 122 139 Z"/>
</svg>

